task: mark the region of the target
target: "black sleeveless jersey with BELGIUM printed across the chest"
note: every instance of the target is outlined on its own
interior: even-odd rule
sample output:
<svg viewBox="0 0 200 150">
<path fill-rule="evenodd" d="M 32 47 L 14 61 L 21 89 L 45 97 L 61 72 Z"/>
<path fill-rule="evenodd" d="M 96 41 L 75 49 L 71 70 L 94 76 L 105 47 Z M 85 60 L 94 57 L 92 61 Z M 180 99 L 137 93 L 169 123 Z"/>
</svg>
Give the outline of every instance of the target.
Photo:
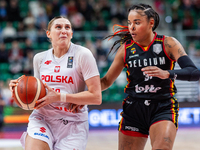
<svg viewBox="0 0 200 150">
<path fill-rule="evenodd" d="M 125 93 L 131 97 L 162 100 L 173 97 L 177 92 L 173 79 L 150 77 L 141 71 L 147 66 L 157 66 L 162 70 L 174 69 L 175 60 L 167 55 L 164 38 L 164 35 L 155 33 L 146 50 L 133 40 L 125 43 L 124 62 L 128 81 Z"/>
</svg>

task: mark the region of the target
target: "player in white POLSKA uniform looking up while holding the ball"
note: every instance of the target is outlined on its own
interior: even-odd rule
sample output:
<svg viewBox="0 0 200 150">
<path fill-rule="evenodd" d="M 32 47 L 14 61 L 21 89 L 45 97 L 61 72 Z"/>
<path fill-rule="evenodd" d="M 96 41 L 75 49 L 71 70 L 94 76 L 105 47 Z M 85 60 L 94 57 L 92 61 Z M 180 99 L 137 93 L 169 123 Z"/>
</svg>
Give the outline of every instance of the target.
<svg viewBox="0 0 200 150">
<path fill-rule="evenodd" d="M 33 64 L 34 76 L 45 83 L 48 92 L 37 101 L 20 141 L 26 150 L 85 150 L 87 105 L 102 101 L 96 61 L 89 49 L 71 42 L 68 19 L 53 18 L 46 33 L 52 48 L 36 54 Z M 11 91 L 16 84 L 17 80 L 10 81 Z M 84 107 L 73 113 L 72 103 Z"/>
</svg>

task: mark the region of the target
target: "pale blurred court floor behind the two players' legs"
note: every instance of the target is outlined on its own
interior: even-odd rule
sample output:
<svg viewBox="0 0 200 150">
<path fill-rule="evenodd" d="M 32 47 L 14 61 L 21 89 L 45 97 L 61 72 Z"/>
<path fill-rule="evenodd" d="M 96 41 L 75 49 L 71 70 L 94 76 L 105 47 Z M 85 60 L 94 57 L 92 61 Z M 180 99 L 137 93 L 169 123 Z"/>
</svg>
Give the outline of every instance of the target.
<svg viewBox="0 0 200 150">
<path fill-rule="evenodd" d="M 0 150 L 23 150 L 19 138 L 22 132 L 0 133 Z M 116 130 L 90 130 L 86 150 L 117 150 Z M 148 139 L 144 150 L 151 150 Z M 200 128 L 179 128 L 173 150 L 200 150 Z"/>
</svg>

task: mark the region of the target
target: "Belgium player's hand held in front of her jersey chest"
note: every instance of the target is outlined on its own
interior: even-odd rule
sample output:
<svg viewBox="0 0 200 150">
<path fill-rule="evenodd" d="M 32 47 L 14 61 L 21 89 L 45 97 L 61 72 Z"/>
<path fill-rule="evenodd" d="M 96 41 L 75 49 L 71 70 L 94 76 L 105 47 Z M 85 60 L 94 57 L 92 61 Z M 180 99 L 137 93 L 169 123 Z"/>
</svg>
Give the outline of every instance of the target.
<svg viewBox="0 0 200 150">
<path fill-rule="evenodd" d="M 162 70 L 156 66 L 148 66 L 141 69 L 144 74 L 152 77 L 158 77 L 160 79 L 169 78 L 169 72 L 166 70 Z"/>
</svg>

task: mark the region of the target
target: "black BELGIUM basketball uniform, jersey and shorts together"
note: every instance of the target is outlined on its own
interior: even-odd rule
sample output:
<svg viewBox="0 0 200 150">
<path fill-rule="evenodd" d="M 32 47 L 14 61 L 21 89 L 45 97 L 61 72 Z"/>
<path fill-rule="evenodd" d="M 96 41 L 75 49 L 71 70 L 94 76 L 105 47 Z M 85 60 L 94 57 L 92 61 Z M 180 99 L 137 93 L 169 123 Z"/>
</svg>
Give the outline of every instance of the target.
<svg viewBox="0 0 200 150">
<path fill-rule="evenodd" d="M 177 125 L 178 102 L 174 97 L 174 79 L 150 77 L 141 71 L 147 66 L 173 70 L 175 61 L 169 58 L 164 47 L 164 35 L 155 33 L 148 47 L 133 40 L 125 43 L 124 63 L 127 69 L 127 93 L 123 101 L 119 130 L 132 136 L 147 137 L 149 127 L 161 120 L 171 120 Z"/>
</svg>

